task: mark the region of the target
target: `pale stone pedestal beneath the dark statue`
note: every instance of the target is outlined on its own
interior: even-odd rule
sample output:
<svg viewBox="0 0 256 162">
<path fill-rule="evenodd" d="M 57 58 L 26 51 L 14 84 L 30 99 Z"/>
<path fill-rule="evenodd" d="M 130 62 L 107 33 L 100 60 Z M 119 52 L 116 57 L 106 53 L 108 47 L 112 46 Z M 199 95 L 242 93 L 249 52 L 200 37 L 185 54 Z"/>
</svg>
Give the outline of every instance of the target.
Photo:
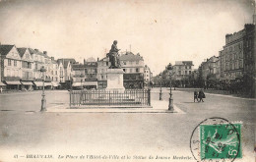
<svg viewBox="0 0 256 162">
<path fill-rule="evenodd" d="M 108 91 L 124 92 L 123 86 L 123 70 L 122 69 L 107 69 L 107 86 Z"/>
</svg>

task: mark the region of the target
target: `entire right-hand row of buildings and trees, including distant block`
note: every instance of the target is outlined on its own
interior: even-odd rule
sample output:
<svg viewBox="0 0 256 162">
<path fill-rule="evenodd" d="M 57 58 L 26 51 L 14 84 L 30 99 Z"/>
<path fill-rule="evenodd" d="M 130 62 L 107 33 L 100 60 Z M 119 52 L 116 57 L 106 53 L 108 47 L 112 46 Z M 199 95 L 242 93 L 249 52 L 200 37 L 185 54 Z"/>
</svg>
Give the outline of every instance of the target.
<svg viewBox="0 0 256 162">
<path fill-rule="evenodd" d="M 171 78 L 173 84 L 242 91 L 255 97 L 255 34 L 255 23 L 246 24 L 243 29 L 226 34 L 223 49 L 217 56 L 203 61 L 198 69 L 193 69 L 192 61 L 175 62 Z M 168 84 L 169 72 L 166 68 L 154 78 L 154 82 Z"/>
</svg>

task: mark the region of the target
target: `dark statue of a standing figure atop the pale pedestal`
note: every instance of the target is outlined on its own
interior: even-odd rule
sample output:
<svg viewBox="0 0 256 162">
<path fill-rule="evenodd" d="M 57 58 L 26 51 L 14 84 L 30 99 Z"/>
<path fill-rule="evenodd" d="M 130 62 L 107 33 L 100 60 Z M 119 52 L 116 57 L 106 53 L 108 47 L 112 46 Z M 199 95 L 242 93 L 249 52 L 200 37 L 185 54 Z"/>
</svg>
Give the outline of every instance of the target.
<svg viewBox="0 0 256 162">
<path fill-rule="evenodd" d="M 109 53 L 106 54 L 106 57 L 109 57 L 109 62 L 111 63 L 111 66 L 109 69 L 118 69 L 121 68 L 120 61 L 118 59 L 119 54 L 118 51 L 120 49 L 117 48 L 117 40 L 114 40 L 111 49 L 109 50 Z"/>
</svg>

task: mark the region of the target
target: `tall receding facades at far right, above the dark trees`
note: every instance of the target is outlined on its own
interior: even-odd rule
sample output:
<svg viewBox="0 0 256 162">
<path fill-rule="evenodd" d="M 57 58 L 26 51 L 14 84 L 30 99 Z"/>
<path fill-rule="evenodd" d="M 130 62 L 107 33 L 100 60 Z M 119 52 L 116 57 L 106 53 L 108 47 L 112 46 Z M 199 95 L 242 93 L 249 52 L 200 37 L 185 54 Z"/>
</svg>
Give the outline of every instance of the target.
<svg viewBox="0 0 256 162">
<path fill-rule="evenodd" d="M 255 24 L 247 24 L 243 29 L 225 35 L 225 44 L 219 56 L 205 60 L 198 69 L 206 86 L 213 78 L 230 84 L 246 75 L 251 79 L 251 93 L 255 95 L 255 34 Z"/>
</svg>

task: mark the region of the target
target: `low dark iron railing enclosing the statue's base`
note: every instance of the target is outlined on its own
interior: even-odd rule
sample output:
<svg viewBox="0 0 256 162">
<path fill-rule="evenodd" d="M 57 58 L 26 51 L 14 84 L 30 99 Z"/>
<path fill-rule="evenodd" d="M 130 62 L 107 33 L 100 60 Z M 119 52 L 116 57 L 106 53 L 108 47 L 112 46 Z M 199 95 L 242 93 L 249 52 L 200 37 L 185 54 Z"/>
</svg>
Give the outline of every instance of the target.
<svg viewBox="0 0 256 162">
<path fill-rule="evenodd" d="M 124 92 L 106 90 L 71 90 L 70 107 L 98 106 L 151 106 L 150 89 L 126 89 Z"/>
</svg>

